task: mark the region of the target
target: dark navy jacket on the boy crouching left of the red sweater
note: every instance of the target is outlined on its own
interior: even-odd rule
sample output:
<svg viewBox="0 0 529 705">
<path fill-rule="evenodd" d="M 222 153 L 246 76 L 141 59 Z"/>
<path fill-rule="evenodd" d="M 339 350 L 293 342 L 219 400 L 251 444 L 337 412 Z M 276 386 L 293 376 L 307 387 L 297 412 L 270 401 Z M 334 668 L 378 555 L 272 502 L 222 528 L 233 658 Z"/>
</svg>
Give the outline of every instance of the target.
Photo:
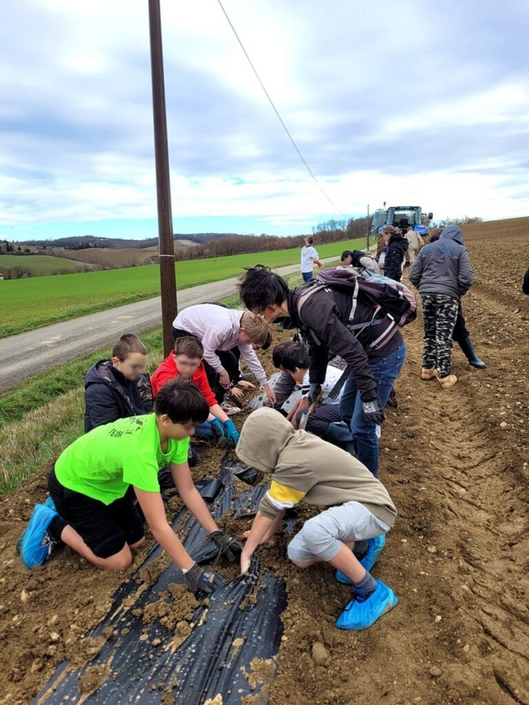
<svg viewBox="0 0 529 705">
<path fill-rule="evenodd" d="M 148 374 L 126 379 L 111 360 L 99 360 L 85 377 L 85 433 L 117 419 L 152 412 Z"/>
</svg>

